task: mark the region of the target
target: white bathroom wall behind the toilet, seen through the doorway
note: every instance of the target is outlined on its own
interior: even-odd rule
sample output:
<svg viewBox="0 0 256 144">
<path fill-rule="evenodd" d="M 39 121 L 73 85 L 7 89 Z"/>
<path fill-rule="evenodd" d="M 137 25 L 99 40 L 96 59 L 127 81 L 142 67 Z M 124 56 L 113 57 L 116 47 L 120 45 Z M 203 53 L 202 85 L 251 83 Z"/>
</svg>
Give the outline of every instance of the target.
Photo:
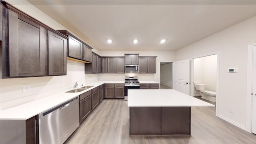
<svg viewBox="0 0 256 144">
<path fill-rule="evenodd" d="M 205 90 L 216 92 L 217 55 L 194 59 L 194 83 L 206 84 Z M 197 94 L 198 91 L 194 91 Z"/>
</svg>

